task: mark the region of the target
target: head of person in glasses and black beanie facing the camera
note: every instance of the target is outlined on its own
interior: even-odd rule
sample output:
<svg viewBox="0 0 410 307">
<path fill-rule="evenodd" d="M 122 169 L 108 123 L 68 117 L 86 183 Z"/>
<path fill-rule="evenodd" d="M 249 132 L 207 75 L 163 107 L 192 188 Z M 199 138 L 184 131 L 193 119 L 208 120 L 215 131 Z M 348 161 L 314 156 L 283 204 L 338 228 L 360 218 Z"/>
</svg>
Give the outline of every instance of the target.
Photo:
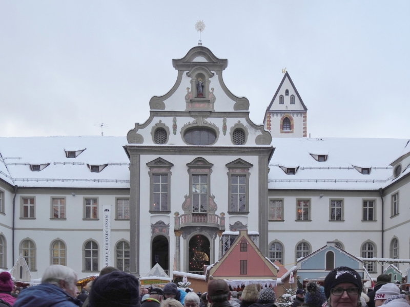
<svg viewBox="0 0 410 307">
<path fill-rule="evenodd" d="M 324 294 L 327 307 L 359 307 L 362 293 L 362 278 L 348 267 L 338 267 L 324 279 Z"/>
</svg>

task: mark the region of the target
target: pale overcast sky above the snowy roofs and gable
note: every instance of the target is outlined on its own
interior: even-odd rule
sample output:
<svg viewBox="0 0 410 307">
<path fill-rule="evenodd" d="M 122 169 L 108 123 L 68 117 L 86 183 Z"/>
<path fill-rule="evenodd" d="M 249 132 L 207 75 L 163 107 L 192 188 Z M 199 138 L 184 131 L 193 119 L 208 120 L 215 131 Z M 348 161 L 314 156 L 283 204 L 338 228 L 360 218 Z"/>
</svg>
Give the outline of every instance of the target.
<svg viewBox="0 0 410 307">
<path fill-rule="evenodd" d="M 410 1 L 1 1 L 0 136 L 126 136 L 203 46 L 262 123 L 287 68 L 312 137 L 410 138 Z"/>
</svg>

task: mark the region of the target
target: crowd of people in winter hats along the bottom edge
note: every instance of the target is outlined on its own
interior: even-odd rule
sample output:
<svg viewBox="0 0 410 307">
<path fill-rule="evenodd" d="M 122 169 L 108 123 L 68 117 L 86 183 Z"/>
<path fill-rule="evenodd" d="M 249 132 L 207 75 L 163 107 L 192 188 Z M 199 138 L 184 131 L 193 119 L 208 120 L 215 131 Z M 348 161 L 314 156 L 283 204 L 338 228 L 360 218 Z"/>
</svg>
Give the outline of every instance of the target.
<svg viewBox="0 0 410 307">
<path fill-rule="evenodd" d="M 222 279 L 211 279 L 208 291 L 203 294 L 184 291 L 173 282 L 163 288 L 140 290 L 134 275 L 106 267 L 80 293 L 76 283 L 77 275 L 72 269 L 53 265 L 45 271 L 41 284 L 20 291 L 10 274 L 2 272 L 0 307 L 277 307 L 272 288 L 249 284 L 242 291 L 230 291 Z M 365 294 L 359 273 L 348 267 L 330 271 L 324 287 L 312 281 L 306 289 L 298 289 L 292 304 L 292 307 L 379 306 L 409 307 L 408 293 L 401 293 L 390 277 L 382 274 L 373 291 Z"/>
</svg>

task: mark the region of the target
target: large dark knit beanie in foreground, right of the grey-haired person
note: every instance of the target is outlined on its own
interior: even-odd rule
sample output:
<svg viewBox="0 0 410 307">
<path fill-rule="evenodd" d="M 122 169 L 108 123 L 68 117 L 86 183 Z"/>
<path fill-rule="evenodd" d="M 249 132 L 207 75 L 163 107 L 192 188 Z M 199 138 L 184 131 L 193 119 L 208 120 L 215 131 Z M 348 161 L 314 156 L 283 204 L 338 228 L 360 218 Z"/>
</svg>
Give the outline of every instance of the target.
<svg viewBox="0 0 410 307">
<path fill-rule="evenodd" d="M 99 276 L 93 282 L 90 306 L 139 307 L 138 288 L 138 279 L 122 271 Z"/>
</svg>

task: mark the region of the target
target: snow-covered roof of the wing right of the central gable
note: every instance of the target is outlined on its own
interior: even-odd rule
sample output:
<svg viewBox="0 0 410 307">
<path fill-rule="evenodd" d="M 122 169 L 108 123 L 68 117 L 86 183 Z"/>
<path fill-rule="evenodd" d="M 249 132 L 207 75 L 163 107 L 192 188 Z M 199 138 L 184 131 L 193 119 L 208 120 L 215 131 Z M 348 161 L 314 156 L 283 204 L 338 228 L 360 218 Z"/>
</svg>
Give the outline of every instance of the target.
<svg viewBox="0 0 410 307">
<path fill-rule="evenodd" d="M 273 138 L 275 152 L 269 163 L 270 189 L 377 190 L 393 181 L 391 161 L 400 156 L 407 139 Z M 317 148 L 317 149 L 316 149 Z M 310 153 L 329 152 L 326 161 Z M 298 165 L 296 174 L 280 166 Z M 371 168 L 362 174 L 355 167 Z M 410 171 L 405 170 L 401 176 Z M 400 176 L 400 177 L 401 177 Z"/>
</svg>

